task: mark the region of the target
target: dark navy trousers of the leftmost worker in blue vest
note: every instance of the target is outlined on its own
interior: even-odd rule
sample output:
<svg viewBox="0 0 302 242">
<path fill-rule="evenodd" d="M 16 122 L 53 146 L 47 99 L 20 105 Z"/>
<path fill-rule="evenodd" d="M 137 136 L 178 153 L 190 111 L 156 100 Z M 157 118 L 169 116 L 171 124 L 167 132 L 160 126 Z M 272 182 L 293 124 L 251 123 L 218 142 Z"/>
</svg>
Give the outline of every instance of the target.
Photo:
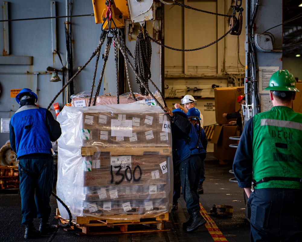
<svg viewBox="0 0 302 242">
<path fill-rule="evenodd" d="M 20 159 L 19 164 L 21 213 L 23 216 L 21 224 L 26 224 L 36 217 L 48 221 L 51 211 L 49 204 L 50 195 L 53 189 L 53 157 L 50 156 L 46 159 Z M 47 165 L 43 169 L 45 164 Z M 20 171 L 21 167 L 30 175 Z"/>
</svg>

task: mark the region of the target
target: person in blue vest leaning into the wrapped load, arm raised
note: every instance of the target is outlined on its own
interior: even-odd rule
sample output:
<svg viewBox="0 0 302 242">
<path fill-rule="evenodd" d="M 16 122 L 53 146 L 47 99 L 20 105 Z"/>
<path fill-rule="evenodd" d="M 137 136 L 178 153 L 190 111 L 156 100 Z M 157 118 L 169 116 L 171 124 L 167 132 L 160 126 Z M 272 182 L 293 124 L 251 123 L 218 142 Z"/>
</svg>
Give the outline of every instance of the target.
<svg viewBox="0 0 302 242">
<path fill-rule="evenodd" d="M 201 170 L 200 154 L 205 150 L 198 139 L 196 129 L 181 109 L 171 111 L 164 107 L 164 110 L 172 117 L 173 165 L 174 169 L 179 172 L 182 193 L 190 214 L 190 218 L 183 224 L 183 228 L 187 232 L 193 232 L 207 222 L 201 216 L 197 193 Z"/>
</svg>

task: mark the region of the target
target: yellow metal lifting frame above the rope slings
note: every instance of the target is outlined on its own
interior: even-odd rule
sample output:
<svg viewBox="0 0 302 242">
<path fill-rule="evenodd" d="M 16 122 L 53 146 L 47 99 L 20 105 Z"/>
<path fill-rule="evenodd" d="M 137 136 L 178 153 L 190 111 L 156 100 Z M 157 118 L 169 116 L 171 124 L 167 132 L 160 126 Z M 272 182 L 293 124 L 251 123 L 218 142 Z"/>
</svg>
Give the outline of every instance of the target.
<svg viewBox="0 0 302 242">
<path fill-rule="evenodd" d="M 105 2 L 105 0 L 92 0 L 96 24 L 102 24 L 106 19 L 108 7 Z M 123 28 L 125 19 L 130 19 L 128 0 L 111 0 L 111 2 L 112 20 L 117 28 Z M 111 28 L 115 28 L 115 26 L 112 24 Z M 109 29 L 107 21 L 104 23 L 103 29 Z"/>
</svg>

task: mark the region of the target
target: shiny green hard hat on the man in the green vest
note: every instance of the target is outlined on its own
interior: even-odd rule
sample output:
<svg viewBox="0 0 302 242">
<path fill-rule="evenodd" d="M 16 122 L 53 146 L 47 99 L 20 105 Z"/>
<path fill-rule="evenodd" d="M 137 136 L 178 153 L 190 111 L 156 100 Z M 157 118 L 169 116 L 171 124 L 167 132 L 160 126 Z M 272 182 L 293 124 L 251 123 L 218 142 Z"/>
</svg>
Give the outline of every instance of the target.
<svg viewBox="0 0 302 242">
<path fill-rule="evenodd" d="M 269 85 L 264 90 L 300 92 L 296 88 L 296 79 L 288 70 L 278 70 L 272 74 Z"/>
</svg>

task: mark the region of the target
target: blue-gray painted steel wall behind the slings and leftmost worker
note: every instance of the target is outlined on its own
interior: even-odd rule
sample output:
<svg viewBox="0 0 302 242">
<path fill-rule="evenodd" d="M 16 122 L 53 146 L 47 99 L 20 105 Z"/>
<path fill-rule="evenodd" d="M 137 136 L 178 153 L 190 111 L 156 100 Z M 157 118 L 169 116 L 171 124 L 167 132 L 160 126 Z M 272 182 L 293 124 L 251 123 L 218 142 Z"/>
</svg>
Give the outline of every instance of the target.
<svg viewBox="0 0 302 242">
<path fill-rule="evenodd" d="M 66 16 L 66 0 L 9 0 L 7 4 L 8 19 L 50 17 L 51 2 L 55 2 L 56 16 Z M 72 2 L 72 4 L 69 5 L 70 15 L 90 15 L 94 12 L 91 0 L 69 0 L 69 2 Z M 3 1 L 0 3 L 2 6 L 5 5 Z M 3 11 L 0 11 L 1 20 L 4 16 L 5 13 L 3 14 Z M 62 57 L 62 62 L 65 66 L 66 37 L 64 22 L 66 18 L 57 18 L 53 19 L 53 21 L 56 23 L 56 50 Z M 92 16 L 74 17 L 71 19 L 71 23 L 73 72 L 76 73 L 78 67 L 85 64 L 97 47 L 101 34 L 101 25 L 96 24 L 95 18 Z M 8 28 L 6 27 L 7 25 Z M 5 53 L 0 53 L 0 118 L 10 118 L 19 108 L 15 98 L 10 97 L 10 90 L 12 89 L 22 89 L 24 87 L 34 91 L 38 89 L 38 105 L 47 108 L 54 96 L 56 96 L 66 83 L 66 80 L 65 83 L 63 83 L 63 81 L 50 82 L 51 74 L 46 70 L 47 67 L 62 68 L 58 54 L 53 54 L 51 19 L 1 22 L 1 26 L 5 29 L 0 31 L 0 46 L 6 51 L 9 51 L 7 53 L 9 56 L 2 56 L 5 55 Z M 53 29 L 53 34 L 55 34 L 54 32 L 55 30 Z M 7 33 L 9 48 L 7 43 L 4 42 L 5 36 L 7 36 L 5 34 Z M 106 41 L 102 47 L 101 54 L 104 54 L 105 44 Z M 104 92 L 111 92 L 112 95 L 116 95 L 113 46 L 111 46 L 110 54 L 111 56 L 108 60 L 104 77 L 106 80 L 106 90 L 104 90 L 103 80 L 100 95 Z M 33 57 L 32 65 L 21 64 L 21 61 L 28 59 L 27 57 Z M 11 64 L 8 64 L 9 62 L 11 62 Z M 100 57 L 96 74 L 96 86 L 101 74 L 102 65 L 103 60 Z M 93 58 L 87 67 L 76 77 L 75 93 L 82 91 L 90 92 L 94 68 L 95 58 Z M 59 77 L 62 80 L 62 73 L 59 73 Z M 139 90 L 138 86 L 132 86 L 132 88 L 134 92 L 138 92 Z M 55 102 L 58 102 L 62 108 L 66 104 L 66 92 L 60 94 Z M 55 114 L 53 106 L 51 107 L 51 111 Z M 4 145 L 8 139 L 8 133 L 0 133 L 0 147 Z"/>
</svg>

